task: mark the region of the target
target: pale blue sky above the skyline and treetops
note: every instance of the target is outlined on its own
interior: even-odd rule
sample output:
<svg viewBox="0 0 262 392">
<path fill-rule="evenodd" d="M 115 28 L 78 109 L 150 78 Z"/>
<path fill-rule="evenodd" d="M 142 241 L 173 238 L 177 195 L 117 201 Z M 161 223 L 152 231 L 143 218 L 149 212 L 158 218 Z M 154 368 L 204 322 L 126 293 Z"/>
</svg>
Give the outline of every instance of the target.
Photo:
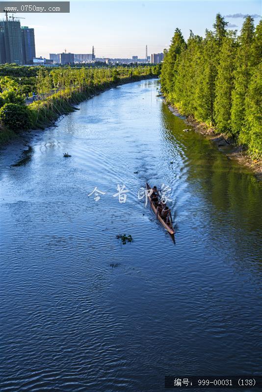
<svg viewBox="0 0 262 392">
<path fill-rule="evenodd" d="M 22 25 L 35 29 L 36 55 L 49 57 L 67 49 L 97 57 L 145 57 L 169 46 L 176 27 L 185 38 L 189 29 L 204 35 L 212 28 L 216 13 L 261 15 L 260 0 L 235 1 L 70 1 L 69 14 L 24 13 Z M 1 14 L 1 16 L 3 16 Z M 241 28 L 243 18 L 226 18 Z M 259 18 L 255 19 L 255 23 Z"/>
</svg>

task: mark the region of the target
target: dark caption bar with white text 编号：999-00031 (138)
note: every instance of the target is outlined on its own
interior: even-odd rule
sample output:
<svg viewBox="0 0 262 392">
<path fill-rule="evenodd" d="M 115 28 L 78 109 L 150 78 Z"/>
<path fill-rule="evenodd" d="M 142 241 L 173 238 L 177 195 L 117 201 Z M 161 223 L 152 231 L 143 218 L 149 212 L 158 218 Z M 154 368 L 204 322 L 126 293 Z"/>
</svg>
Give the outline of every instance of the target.
<svg viewBox="0 0 262 392">
<path fill-rule="evenodd" d="M 262 376 L 165 376 L 165 388 L 262 388 Z"/>
</svg>

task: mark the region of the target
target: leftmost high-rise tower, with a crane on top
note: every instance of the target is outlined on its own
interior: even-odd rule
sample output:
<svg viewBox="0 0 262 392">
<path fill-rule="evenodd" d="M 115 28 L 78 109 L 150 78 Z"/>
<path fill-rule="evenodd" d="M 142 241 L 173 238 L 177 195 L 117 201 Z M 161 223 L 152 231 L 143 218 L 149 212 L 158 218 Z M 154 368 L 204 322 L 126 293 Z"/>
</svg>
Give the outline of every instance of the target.
<svg viewBox="0 0 262 392">
<path fill-rule="evenodd" d="M 23 64 L 22 33 L 19 21 L 0 21 L 1 62 Z"/>
</svg>

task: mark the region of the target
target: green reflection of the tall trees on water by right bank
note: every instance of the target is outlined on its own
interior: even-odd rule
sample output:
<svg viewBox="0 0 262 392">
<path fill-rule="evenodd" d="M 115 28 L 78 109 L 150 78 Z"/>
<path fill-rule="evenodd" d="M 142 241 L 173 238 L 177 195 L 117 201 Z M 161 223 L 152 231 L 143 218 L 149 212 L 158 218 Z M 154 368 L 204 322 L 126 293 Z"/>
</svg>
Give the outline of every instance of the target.
<svg viewBox="0 0 262 392">
<path fill-rule="evenodd" d="M 162 106 L 163 137 L 168 144 L 169 158 L 174 145 L 183 150 L 183 164 L 187 167 L 187 180 L 196 186 L 194 191 L 209 196 L 217 210 L 232 211 L 245 217 L 250 226 L 257 227 L 257 213 L 262 213 L 262 184 L 252 173 L 234 161 L 228 161 L 212 143 L 194 131 L 183 132 L 184 123 Z M 169 159 L 168 158 L 168 159 Z"/>
</svg>

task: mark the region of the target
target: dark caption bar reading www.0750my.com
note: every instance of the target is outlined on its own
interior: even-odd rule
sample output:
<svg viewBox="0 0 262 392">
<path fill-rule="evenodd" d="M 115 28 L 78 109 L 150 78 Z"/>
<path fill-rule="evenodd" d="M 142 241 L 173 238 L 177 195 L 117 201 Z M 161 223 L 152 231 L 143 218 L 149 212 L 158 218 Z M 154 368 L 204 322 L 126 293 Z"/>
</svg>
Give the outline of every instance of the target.
<svg viewBox="0 0 262 392">
<path fill-rule="evenodd" d="M 0 12 L 68 13 L 69 1 L 0 1 Z"/>
</svg>

